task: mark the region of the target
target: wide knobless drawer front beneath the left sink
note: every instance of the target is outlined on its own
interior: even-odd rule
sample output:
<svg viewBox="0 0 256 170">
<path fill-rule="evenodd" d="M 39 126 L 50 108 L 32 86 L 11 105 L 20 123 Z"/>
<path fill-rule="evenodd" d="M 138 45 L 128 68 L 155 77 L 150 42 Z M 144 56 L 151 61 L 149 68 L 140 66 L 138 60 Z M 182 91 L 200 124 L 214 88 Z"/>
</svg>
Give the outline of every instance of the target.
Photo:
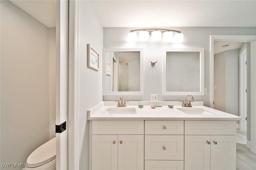
<svg viewBox="0 0 256 170">
<path fill-rule="evenodd" d="M 93 135 L 143 135 L 143 120 L 94 120 L 92 121 Z"/>
</svg>

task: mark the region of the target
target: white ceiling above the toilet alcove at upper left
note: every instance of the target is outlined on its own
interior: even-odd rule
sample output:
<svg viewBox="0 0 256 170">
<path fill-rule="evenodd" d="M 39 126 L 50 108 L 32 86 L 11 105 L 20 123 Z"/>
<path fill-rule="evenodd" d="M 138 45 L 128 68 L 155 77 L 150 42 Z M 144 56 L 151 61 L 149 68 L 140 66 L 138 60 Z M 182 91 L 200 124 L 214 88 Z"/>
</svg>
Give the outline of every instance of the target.
<svg viewBox="0 0 256 170">
<path fill-rule="evenodd" d="M 47 27 L 56 27 L 55 0 L 10 0 Z"/>
</svg>

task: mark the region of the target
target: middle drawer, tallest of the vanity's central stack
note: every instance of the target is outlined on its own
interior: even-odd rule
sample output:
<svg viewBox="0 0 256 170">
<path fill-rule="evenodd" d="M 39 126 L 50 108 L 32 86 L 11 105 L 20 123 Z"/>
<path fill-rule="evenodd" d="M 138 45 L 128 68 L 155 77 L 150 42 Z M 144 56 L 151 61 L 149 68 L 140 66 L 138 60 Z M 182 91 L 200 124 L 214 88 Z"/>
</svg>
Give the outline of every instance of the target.
<svg viewBox="0 0 256 170">
<path fill-rule="evenodd" d="M 145 135 L 145 160 L 184 160 L 184 135 Z"/>
</svg>

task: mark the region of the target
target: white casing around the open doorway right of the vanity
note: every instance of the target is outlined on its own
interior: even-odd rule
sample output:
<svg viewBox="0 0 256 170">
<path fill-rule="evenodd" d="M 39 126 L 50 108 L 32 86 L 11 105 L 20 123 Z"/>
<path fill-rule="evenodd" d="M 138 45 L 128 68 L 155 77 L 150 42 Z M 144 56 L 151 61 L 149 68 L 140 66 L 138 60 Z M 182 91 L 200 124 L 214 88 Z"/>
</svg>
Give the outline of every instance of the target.
<svg viewBox="0 0 256 170">
<path fill-rule="evenodd" d="M 251 43 L 251 120 L 256 120 L 256 35 L 210 35 L 210 107 L 214 101 L 214 41 L 236 41 Z M 251 123 L 250 150 L 256 153 L 256 123 Z"/>
</svg>

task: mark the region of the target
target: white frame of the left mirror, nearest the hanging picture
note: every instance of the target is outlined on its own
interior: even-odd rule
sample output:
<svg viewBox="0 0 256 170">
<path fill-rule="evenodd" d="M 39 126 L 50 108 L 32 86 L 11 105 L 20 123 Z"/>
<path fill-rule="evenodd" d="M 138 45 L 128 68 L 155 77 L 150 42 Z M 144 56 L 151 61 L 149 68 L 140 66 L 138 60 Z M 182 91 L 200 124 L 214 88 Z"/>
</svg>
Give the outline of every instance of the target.
<svg viewBox="0 0 256 170">
<path fill-rule="evenodd" d="M 140 52 L 140 91 L 138 92 L 107 92 L 106 91 L 106 52 Z M 143 95 L 144 94 L 144 59 L 142 48 L 104 48 L 102 53 L 103 95 Z"/>
</svg>

